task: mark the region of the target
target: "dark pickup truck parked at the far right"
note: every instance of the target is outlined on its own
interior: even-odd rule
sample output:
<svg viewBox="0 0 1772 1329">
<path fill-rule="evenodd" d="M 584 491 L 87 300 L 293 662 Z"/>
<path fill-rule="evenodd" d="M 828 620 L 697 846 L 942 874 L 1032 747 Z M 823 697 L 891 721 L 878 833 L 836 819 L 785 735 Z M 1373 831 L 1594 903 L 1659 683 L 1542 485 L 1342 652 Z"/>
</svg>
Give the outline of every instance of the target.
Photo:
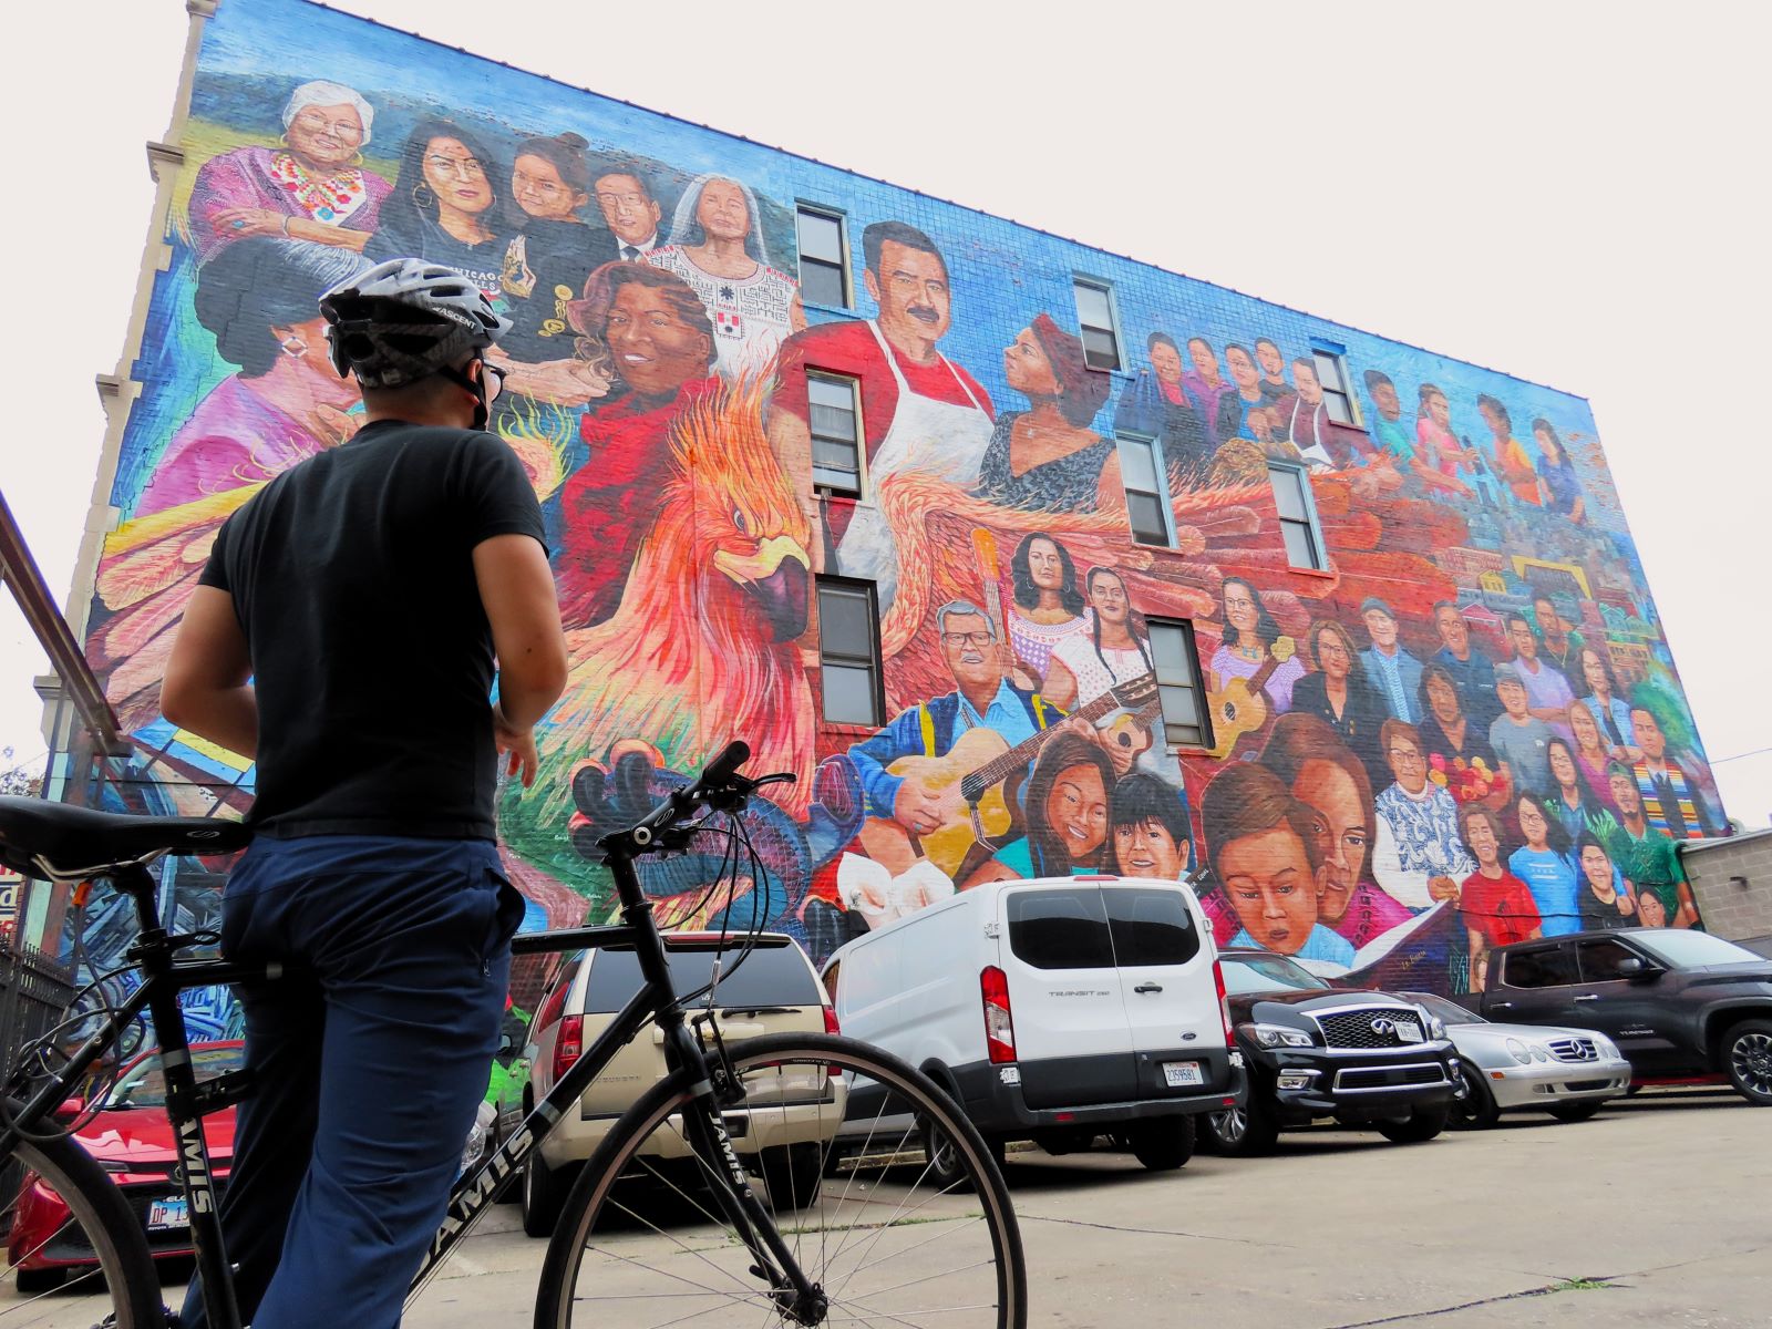
<svg viewBox="0 0 1772 1329">
<path fill-rule="evenodd" d="M 1636 1084 L 1728 1081 L 1772 1106 L 1772 960 L 1708 932 L 1634 927 L 1499 946 L 1473 1006 L 1508 1024 L 1581 1024 Z"/>
</svg>

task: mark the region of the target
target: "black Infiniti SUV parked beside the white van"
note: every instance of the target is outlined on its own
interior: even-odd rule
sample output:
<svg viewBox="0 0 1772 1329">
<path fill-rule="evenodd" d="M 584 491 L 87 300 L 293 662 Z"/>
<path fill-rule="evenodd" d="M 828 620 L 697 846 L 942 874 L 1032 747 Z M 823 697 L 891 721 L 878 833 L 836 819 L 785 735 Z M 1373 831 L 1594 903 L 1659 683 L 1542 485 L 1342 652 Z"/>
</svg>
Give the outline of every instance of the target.
<svg viewBox="0 0 1772 1329">
<path fill-rule="evenodd" d="M 1331 1116 L 1398 1145 L 1446 1129 L 1464 1081 L 1439 1017 L 1267 950 L 1224 950 L 1219 968 L 1249 1065 L 1247 1102 L 1207 1118 L 1219 1154 L 1265 1154 L 1286 1127 Z"/>
</svg>

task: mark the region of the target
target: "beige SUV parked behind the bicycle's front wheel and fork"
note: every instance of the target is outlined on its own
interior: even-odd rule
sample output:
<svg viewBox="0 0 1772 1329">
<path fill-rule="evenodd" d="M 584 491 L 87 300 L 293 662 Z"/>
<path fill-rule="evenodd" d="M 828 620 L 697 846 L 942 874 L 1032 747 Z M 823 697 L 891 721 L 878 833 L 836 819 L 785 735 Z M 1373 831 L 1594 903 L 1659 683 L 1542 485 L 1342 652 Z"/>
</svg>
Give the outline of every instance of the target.
<svg viewBox="0 0 1772 1329">
<path fill-rule="evenodd" d="M 780 932 L 764 932 L 742 964 L 734 964 L 744 939 L 718 932 L 677 932 L 664 937 L 677 991 L 689 994 L 712 978 L 714 960 L 723 959 L 714 1024 L 728 1042 L 766 1033 L 835 1033 L 836 1019 L 819 985 L 819 975 L 799 944 Z M 558 1083 L 578 1054 L 610 1026 L 627 999 L 640 991 L 640 959 L 633 946 L 602 946 L 567 957 L 548 983 L 525 1049 L 523 1113 Z M 695 1012 L 700 1012 L 696 1003 Z M 643 1030 L 579 1099 L 579 1111 L 530 1150 L 523 1170 L 523 1230 L 546 1237 L 560 1217 L 560 1205 L 579 1164 L 608 1136 L 615 1120 L 654 1083 L 664 1077 L 664 1049 Z M 804 1205 L 819 1193 L 824 1146 L 843 1118 L 845 1084 L 829 1076 L 767 1072 L 753 1077 L 750 1097 L 725 1115 L 727 1131 L 744 1164 L 762 1175 L 780 1207 Z M 762 1109 L 762 1111 L 753 1111 Z M 680 1136 L 656 1132 L 645 1155 L 661 1161 L 689 1159 Z"/>
</svg>

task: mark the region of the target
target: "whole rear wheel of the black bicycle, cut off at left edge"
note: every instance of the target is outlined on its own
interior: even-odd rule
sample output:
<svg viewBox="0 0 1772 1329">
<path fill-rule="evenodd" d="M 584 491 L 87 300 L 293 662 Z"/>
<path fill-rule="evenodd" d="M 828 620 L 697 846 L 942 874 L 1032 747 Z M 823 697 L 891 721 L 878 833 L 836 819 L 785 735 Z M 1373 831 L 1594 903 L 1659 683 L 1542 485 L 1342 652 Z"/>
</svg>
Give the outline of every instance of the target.
<svg viewBox="0 0 1772 1329">
<path fill-rule="evenodd" d="M 18 1111 L 7 1102 L 7 1120 Z M 167 1324 L 142 1223 L 80 1145 L 21 1139 L 0 1162 L 0 1329 Z"/>
</svg>

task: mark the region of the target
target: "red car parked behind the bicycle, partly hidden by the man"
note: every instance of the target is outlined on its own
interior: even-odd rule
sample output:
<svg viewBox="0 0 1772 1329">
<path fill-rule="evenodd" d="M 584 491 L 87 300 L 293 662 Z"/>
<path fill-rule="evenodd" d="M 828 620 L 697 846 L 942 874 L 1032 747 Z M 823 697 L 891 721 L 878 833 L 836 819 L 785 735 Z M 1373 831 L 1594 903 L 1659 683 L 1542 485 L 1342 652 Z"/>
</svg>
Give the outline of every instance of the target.
<svg viewBox="0 0 1772 1329">
<path fill-rule="evenodd" d="M 237 1040 L 191 1044 L 200 1081 L 237 1070 L 243 1056 L 245 1044 Z M 191 1219 L 165 1106 L 159 1049 L 152 1049 L 119 1072 L 97 1116 L 74 1136 L 129 1198 L 156 1260 L 191 1253 Z M 234 1157 L 234 1109 L 206 1116 L 204 1136 L 220 1189 Z M 18 1290 L 27 1294 L 58 1286 L 67 1271 L 96 1263 L 80 1224 L 69 1224 L 67 1205 L 35 1173 L 25 1173 L 19 1185 L 7 1232 L 7 1262 L 18 1271 Z"/>
</svg>

